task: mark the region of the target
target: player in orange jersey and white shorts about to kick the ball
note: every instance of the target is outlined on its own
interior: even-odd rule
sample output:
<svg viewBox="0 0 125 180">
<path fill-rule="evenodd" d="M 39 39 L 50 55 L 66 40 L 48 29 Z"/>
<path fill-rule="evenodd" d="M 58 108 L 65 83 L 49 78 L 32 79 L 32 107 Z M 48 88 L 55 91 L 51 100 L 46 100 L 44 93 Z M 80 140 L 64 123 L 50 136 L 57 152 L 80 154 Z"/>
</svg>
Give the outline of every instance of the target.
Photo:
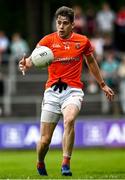
<svg viewBox="0 0 125 180">
<path fill-rule="evenodd" d="M 54 61 L 48 67 L 48 80 L 42 102 L 40 140 L 37 144 L 37 170 L 42 176 L 48 175 L 45 156 L 54 129 L 62 115 L 64 133 L 61 173 L 64 176 L 72 176 L 70 160 L 74 145 L 74 124 L 84 97 L 84 83 L 81 81 L 84 61 L 110 101 L 114 98 L 114 92 L 102 78 L 89 39 L 73 32 L 73 9 L 62 6 L 57 9 L 55 17 L 57 31 L 46 35 L 37 44 L 37 46 L 49 47 L 54 53 Z M 25 72 L 31 67 L 31 57 L 20 60 L 21 71 Z"/>
</svg>

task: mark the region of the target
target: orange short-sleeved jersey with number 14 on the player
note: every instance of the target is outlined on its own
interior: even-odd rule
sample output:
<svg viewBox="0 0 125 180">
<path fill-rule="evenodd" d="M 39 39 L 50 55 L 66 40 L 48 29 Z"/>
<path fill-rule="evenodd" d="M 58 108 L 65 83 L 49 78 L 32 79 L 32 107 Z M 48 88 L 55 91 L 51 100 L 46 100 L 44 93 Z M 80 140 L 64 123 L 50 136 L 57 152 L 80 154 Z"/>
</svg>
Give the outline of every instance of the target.
<svg viewBox="0 0 125 180">
<path fill-rule="evenodd" d="M 93 47 L 86 36 L 73 32 L 69 39 L 62 39 L 54 32 L 41 39 L 38 45 L 49 47 L 55 57 L 48 67 L 46 88 L 51 87 L 59 78 L 71 87 L 83 88 L 81 82 L 83 55 L 88 56 L 93 52 Z"/>
</svg>

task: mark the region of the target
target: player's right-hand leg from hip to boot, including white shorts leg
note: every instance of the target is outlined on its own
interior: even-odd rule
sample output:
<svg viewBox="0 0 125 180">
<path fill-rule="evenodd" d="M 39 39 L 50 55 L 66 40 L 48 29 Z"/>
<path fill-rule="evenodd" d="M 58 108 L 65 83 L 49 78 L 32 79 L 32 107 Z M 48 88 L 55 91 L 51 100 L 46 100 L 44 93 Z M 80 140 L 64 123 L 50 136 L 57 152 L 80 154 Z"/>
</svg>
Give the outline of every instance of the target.
<svg viewBox="0 0 125 180">
<path fill-rule="evenodd" d="M 71 176 L 70 159 L 74 145 L 74 124 L 81 109 L 84 93 L 81 89 L 69 88 L 62 104 L 64 118 L 62 175 Z"/>
</svg>

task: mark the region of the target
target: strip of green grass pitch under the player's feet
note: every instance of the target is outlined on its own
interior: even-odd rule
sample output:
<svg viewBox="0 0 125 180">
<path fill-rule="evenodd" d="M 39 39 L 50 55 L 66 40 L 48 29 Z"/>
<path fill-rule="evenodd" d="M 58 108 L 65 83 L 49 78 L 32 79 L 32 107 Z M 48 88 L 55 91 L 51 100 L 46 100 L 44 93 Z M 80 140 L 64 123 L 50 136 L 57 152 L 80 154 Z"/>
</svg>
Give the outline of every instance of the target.
<svg viewBox="0 0 125 180">
<path fill-rule="evenodd" d="M 0 151 L 0 179 L 125 179 L 124 149 L 74 149 L 72 177 L 60 174 L 61 150 L 49 150 L 46 167 L 49 176 L 36 171 L 36 152 Z"/>
</svg>

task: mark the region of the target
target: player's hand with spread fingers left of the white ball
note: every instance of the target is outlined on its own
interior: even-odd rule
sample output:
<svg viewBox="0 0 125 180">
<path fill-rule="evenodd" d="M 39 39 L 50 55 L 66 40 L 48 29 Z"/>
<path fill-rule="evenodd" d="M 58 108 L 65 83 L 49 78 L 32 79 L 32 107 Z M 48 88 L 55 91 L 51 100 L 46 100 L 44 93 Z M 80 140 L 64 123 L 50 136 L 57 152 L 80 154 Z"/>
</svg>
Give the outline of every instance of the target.
<svg viewBox="0 0 125 180">
<path fill-rule="evenodd" d="M 23 58 L 19 61 L 19 70 L 22 72 L 23 75 L 25 75 L 25 72 L 30 69 L 33 66 L 33 63 L 31 61 L 31 57 L 29 56 L 26 58 L 23 56 Z"/>
</svg>

